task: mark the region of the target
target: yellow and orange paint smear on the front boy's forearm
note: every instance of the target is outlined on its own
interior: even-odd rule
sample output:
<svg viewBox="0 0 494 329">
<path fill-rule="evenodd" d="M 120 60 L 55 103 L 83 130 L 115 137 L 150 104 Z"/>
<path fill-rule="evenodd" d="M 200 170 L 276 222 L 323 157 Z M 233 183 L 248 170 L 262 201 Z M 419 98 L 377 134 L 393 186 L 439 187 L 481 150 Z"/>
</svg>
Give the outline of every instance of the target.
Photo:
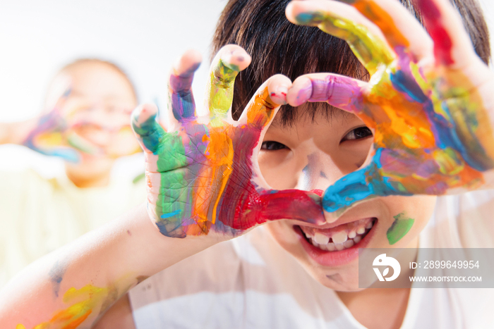
<svg viewBox="0 0 494 329">
<path fill-rule="evenodd" d="M 103 307 L 114 302 L 116 289 L 113 287 L 100 288 L 85 285 L 80 289 L 71 288 L 64 294 L 64 303 L 71 304 L 67 309 L 57 311 L 47 322 L 36 325 L 34 329 L 66 328 L 75 329 L 82 324 L 93 311 L 100 311 Z M 17 329 L 24 328 L 22 324 Z"/>
</svg>

